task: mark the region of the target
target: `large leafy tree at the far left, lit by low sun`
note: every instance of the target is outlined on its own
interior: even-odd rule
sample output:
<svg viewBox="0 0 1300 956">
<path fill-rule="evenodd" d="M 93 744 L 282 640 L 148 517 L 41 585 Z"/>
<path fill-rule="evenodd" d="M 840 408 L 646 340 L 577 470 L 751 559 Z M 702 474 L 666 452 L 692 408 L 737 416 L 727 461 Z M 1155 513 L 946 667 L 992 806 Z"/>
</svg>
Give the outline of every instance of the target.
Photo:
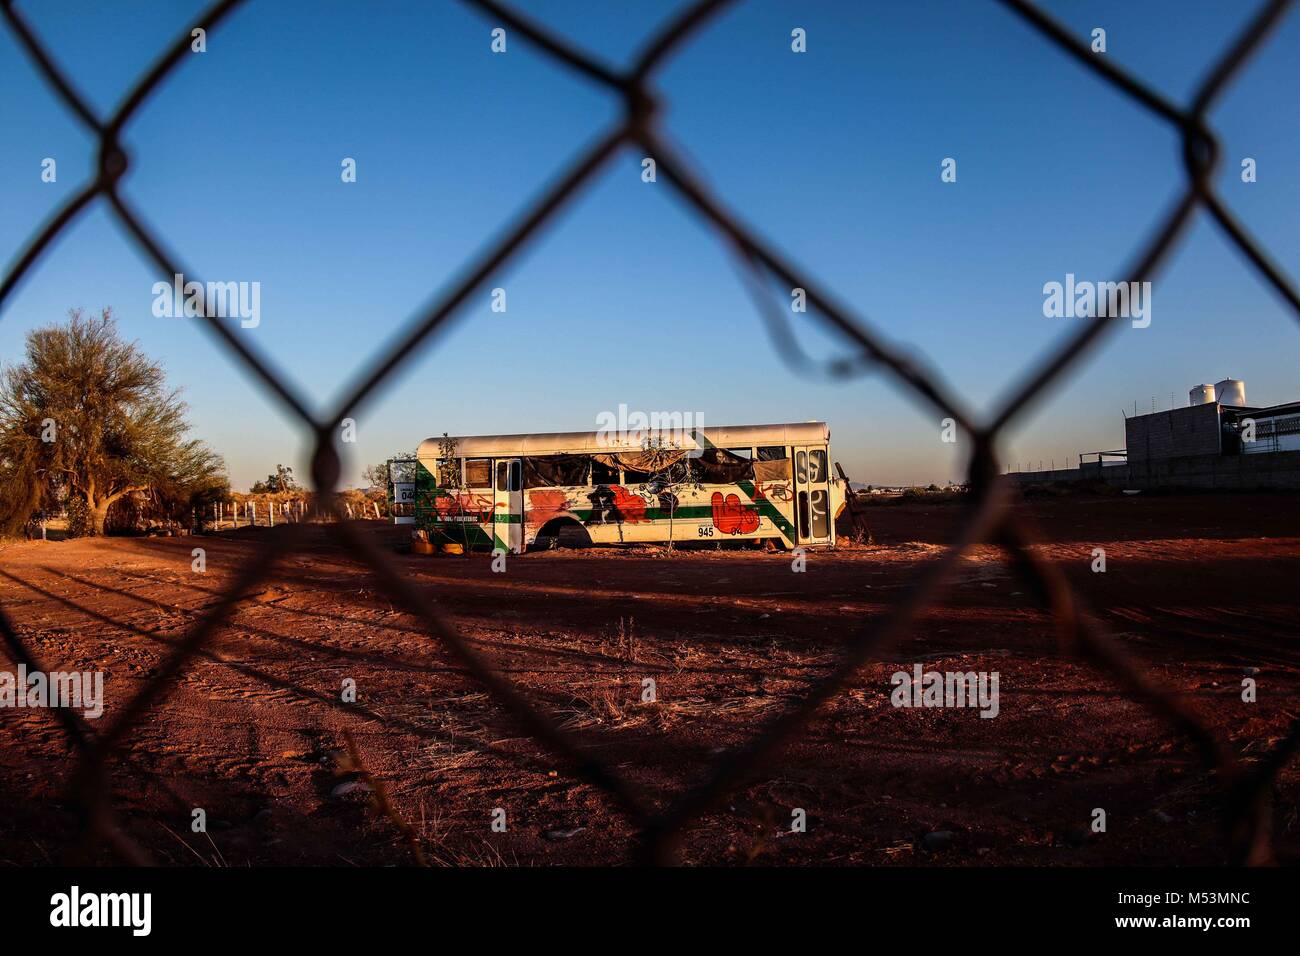
<svg viewBox="0 0 1300 956">
<path fill-rule="evenodd" d="M 187 437 L 188 408 L 162 367 L 118 337 L 110 310 L 69 316 L 27 333 L 25 360 L 0 373 L 0 522 L 10 525 L 0 532 L 58 485 L 84 505 L 95 535 L 134 492 L 152 492 L 174 516 L 216 499 L 225 464 Z"/>
</svg>

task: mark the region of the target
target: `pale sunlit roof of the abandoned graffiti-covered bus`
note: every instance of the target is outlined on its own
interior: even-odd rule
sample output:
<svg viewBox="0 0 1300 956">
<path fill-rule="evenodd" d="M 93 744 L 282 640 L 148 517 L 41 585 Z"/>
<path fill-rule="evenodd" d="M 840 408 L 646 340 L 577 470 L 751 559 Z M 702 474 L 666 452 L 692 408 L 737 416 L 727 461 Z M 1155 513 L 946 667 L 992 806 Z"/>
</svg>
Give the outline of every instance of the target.
<svg viewBox="0 0 1300 956">
<path fill-rule="evenodd" d="M 751 445 L 823 445 L 831 440 L 824 421 L 798 421 L 784 425 L 715 425 L 702 428 L 705 438 L 718 447 Z M 446 438 L 420 442 L 416 457 L 434 460 Z M 604 436 L 602 432 L 551 432 L 545 434 L 473 434 L 452 437 L 458 458 L 504 458 L 515 455 L 554 455 L 562 453 L 599 454 L 620 449 L 640 449 L 640 440 Z M 689 438 L 682 442 L 689 446 Z"/>
</svg>

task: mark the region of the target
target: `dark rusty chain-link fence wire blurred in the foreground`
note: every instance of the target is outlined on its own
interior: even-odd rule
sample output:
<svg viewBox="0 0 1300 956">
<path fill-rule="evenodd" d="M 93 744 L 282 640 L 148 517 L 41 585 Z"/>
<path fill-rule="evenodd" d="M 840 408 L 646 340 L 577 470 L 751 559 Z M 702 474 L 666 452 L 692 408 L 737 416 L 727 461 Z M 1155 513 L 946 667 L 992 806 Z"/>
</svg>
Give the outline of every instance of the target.
<svg viewBox="0 0 1300 956">
<path fill-rule="evenodd" d="M 46 51 L 27 26 L 23 16 L 14 9 L 13 0 L 0 0 L 0 8 L 9 29 L 26 48 L 48 85 L 57 92 L 65 107 L 73 112 L 99 140 L 99 166 L 95 178 L 69 200 L 44 228 L 32 237 L 0 285 L 0 310 L 20 280 L 44 254 L 51 241 L 58 235 L 95 199 L 103 198 L 113 209 L 140 250 L 164 274 L 195 276 L 179 267 L 179 259 L 169 251 L 157 234 L 127 204 L 118 183 L 129 166 L 129 157 L 120 138 L 124 127 L 138 109 L 166 81 L 190 48 L 191 29 L 217 27 L 243 0 L 220 0 L 203 17 L 177 38 L 176 43 L 135 83 L 122 105 L 107 120 L 100 118 L 77 92 L 73 83 Z M 654 806 L 638 790 L 620 777 L 614 767 L 585 750 L 568 732 L 534 708 L 506 678 L 493 670 L 459 633 L 456 627 L 415 585 L 404 579 L 395 563 L 363 531 L 342 520 L 332 525 L 333 533 L 352 548 L 378 575 L 387 593 L 428 628 L 429 635 L 441 641 L 460 663 L 495 698 L 498 705 L 514 718 L 532 737 L 567 762 L 568 771 L 604 791 L 627 814 L 641 834 L 644 861 L 672 862 L 682 830 L 723 799 L 731 790 L 757 771 L 760 763 L 812 717 L 816 709 L 842 689 L 872 656 L 878 656 L 904 636 L 918 615 L 936 602 L 942 587 L 962 554 L 979 542 L 1001 545 L 1031 589 L 1035 598 L 1046 607 L 1056 622 L 1065 649 L 1093 662 L 1139 698 L 1173 728 L 1190 737 L 1208 770 L 1214 770 L 1222 784 L 1225 818 L 1228 838 L 1240 862 L 1264 864 L 1273 856 L 1270 839 L 1270 797 L 1278 774 L 1300 747 L 1300 721 L 1273 750 L 1253 767 L 1245 767 L 1222 740 L 1202 721 L 1186 708 L 1173 693 L 1160 687 L 1150 674 L 1092 619 L 1082 600 L 1074 593 L 1062 572 L 1032 549 L 1036 541 L 1026 519 L 1010 510 L 1014 490 L 1005 477 L 998 476 L 996 440 L 1002 429 L 1031 402 L 1041 398 L 1049 386 L 1076 365 L 1080 359 L 1104 339 L 1114 323 L 1098 315 L 1080 328 L 1063 345 L 1045 356 L 1017 385 L 1011 397 L 987 421 L 978 421 L 968 414 L 935 372 L 920 369 L 894 351 L 881 336 L 858 317 L 852 308 L 801 274 L 779 248 L 760 238 L 716 199 L 685 161 L 668 146 L 656 127 L 659 103 L 651 79 L 660 65 L 719 10 L 734 0 L 699 0 L 645 46 L 629 69 L 608 68 L 586 52 L 573 47 L 538 23 L 495 0 L 463 0 L 491 18 L 494 25 L 504 25 L 524 35 L 545 51 L 556 64 L 581 73 L 590 82 L 621 98 L 621 121 L 604 133 L 594 146 L 573 163 L 552 185 L 545 189 L 529 207 L 460 277 L 454 290 L 445 295 L 426 315 L 413 320 L 404 339 L 387 354 L 376 359 L 359 376 L 350 394 L 324 418 L 308 411 L 307 403 L 278 373 L 264 355 L 239 341 L 217 319 L 207 317 L 207 328 L 224 347 L 234 352 L 248 372 L 264 388 L 274 393 L 315 433 L 312 477 L 316 489 L 326 496 L 337 492 L 339 459 L 333 446 L 333 434 L 342 419 L 364 399 L 381 388 L 385 378 L 407 363 L 425 345 L 430 334 L 446 323 L 480 289 L 489 277 L 520 248 L 530 242 L 543 225 L 554 220 L 560 208 L 582 189 L 598 170 L 624 147 L 640 148 L 653 156 L 658 170 L 672 186 L 677 196 L 703 220 L 734 254 L 746 272 L 750 291 L 759 302 L 764 317 L 771 317 L 770 302 L 763 302 L 762 282 L 780 280 L 788 287 L 802 287 L 815 315 L 844 336 L 854 349 L 853 360 L 840 368 L 863 365 L 884 368 L 897 382 L 923 405 L 952 418 L 970 437 L 971 454 L 968 486 L 971 493 L 966 516 L 957 541 L 940 557 L 926 566 L 905 597 L 881 619 L 867 622 L 853 635 L 848 650 L 829 672 L 810 685 L 807 693 L 785 711 L 768 721 L 749 743 L 725 753 L 706 774 L 706 778 L 686 792 L 670 800 L 666 806 Z M 1209 211 L 1213 220 L 1247 256 L 1258 273 L 1287 302 L 1300 320 L 1300 295 L 1283 272 L 1273 264 L 1260 245 L 1251 238 L 1223 200 L 1214 193 L 1212 176 L 1218 165 L 1218 142 L 1206 124 L 1206 114 L 1225 87 L 1254 55 L 1265 38 L 1274 30 L 1291 5 L 1291 0 L 1268 0 L 1247 27 L 1210 66 L 1200 83 L 1192 103 L 1179 107 L 1166 100 L 1149 85 L 1141 82 L 1109 59 L 1096 56 L 1088 46 L 1076 39 L 1052 17 L 1028 0 L 997 0 L 1008 7 L 1039 34 L 1056 44 L 1065 55 L 1074 57 L 1087 69 L 1098 74 L 1112 86 L 1140 103 L 1147 111 L 1174 126 L 1182 137 L 1183 165 L 1187 189 L 1164 220 L 1156 226 L 1147 245 L 1132 263 L 1123 269 L 1128 281 L 1152 278 L 1166 263 L 1179 241 L 1192 213 L 1200 207 Z M 814 315 L 810 312 L 809 315 Z M 79 754 L 73 774 L 70 793 L 84 810 L 87 839 L 103 840 L 129 862 L 151 862 L 148 855 L 117 825 L 110 808 L 112 792 L 108 762 L 118 745 L 131 732 L 140 718 L 165 697 L 176 679 L 191 661 L 203 653 L 205 644 L 231 614 L 235 602 L 255 583 L 266 575 L 273 564 L 292 551 L 300 541 L 298 525 L 285 525 L 268 533 L 266 545 L 256 559 L 237 576 L 222 598 L 181 639 L 162 661 L 157 674 L 121 709 L 114 721 L 100 734 L 91 734 L 84 719 L 68 709 L 53 709 L 56 719 Z M 0 632 L 18 663 L 29 670 L 40 670 L 25 646 L 18 632 L 0 607 Z M 265 679 L 273 680 L 269 675 Z"/>
</svg>

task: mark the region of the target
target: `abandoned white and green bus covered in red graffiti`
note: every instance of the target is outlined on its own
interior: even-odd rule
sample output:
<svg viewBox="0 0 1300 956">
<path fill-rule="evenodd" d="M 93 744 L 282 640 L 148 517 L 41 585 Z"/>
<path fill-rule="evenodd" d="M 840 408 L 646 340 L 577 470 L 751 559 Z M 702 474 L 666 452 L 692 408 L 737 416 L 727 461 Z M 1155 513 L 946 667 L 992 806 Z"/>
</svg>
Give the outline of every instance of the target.
<svg viewBox="0 0 1300 956">
<path fill-rule="evenodd" d="M 413 524 L 438 545 L 724 540 L 831 546 L 844 483 L 824 421 L 692 429 L 682 442 L 603 432 L 442 437 L 416 453 Z"/>
</svg>

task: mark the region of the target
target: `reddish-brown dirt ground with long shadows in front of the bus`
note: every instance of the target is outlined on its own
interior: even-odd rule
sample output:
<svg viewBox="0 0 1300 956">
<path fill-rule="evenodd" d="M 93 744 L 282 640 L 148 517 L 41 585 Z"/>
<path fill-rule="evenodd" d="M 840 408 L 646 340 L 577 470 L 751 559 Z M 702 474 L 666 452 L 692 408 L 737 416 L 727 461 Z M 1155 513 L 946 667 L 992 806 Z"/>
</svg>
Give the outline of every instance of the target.
<svg viewBox="0 0 1300 956">
<path fill-rule="evenodd" d="M 1300 715 L 1300 496 L 1071 497 L 1020 506 L 1123 646 L 1247 762 Z M 952 503 L 871 507 L 875 548 L 789 554 L 402 554 L 500 672 L 656 800 L 797 697 L 948 541 Z M 104 726 L 265 541 L 0 545 L 0 604 L 47 670 L 103 670 Z M 370 532 L 391 544 L 398 529 Z M 433 862 L 610 864 L 612 800 L 504 721 L 476 682 L 326 537 L 282 562 L 113 763 L 122 826 L 176 865 L 407 865 L 344 732 Z M 191 549 L 207 572 L 191 571 Z M 1091 570 L 1104 548 L 1106 572 Z M 1093 865 L 1230 861 L 1216 783 L 1106 674 L 1062 656 L 1000 551 L 967 558 L 915 633 L 863 669 L 753 782 L 686 832 L 689 864 Z M 997 671 L 1000 713 L 900 709 L 890 674 Z M 0 670 L 14 665 L 0 650 Z M 1257 671 L 1249 670 L 1257 669 Z M 1243 702 L 1253 674 L 1258 701 Z M 356 682 L 355 704 L 341 700 Z M 658 701 L 641 702 L 653 678 Z M 1300 761 L 1297 761 L 1300 762 Z M 77 860 L 72 749 L 44 710 L 0 710 L 0 864 Z M 1292 765 L 1274 847 L 1300 857 Z M 350 792 L 339 792 L 350 791 Z M 208 832 L 191 832 L 203 808 Z M 506 831 L 491 829 L 506 812 Z M 790 832 L 802 808 L 806 832 Z M 1106 832 L 1089 830 L 1104 808 Z M 936 836 L 936 834 L 940 834 Z M 112 860 L 107 849 L 96 860 Z"/>
</svg>

